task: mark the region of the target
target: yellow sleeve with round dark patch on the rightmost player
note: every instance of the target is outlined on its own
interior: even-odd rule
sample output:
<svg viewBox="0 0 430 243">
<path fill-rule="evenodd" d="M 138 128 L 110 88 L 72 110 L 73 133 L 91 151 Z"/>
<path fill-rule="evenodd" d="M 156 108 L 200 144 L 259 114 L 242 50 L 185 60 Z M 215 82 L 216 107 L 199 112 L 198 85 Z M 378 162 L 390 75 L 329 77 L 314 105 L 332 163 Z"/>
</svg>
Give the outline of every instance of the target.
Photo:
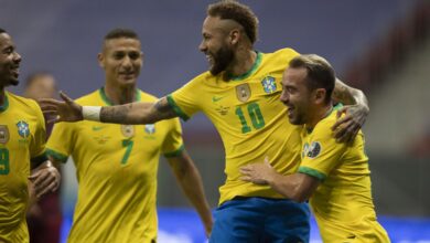
<svg viewBox="0 0 430 243">
<path fill-rule="evenodd" d="M 309 142 L 303 146 L 299 172 L 324 180 L 340 162 L 347 145 L 336 142 L 332 134 L 331 123 L 319 125 L 310 135 Z"/>
</svg>

